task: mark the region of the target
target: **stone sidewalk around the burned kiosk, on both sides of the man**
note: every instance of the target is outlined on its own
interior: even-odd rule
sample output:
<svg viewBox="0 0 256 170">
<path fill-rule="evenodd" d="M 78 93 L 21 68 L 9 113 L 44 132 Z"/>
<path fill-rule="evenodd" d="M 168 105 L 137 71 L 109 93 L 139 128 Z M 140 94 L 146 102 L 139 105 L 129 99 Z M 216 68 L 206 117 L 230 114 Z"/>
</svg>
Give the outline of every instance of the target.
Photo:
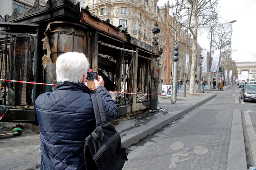
<svg viewBox="0 0 256 170">
<path fill-rule="evenodd" d="M 181 117 L 187 112 L 198 107 L 202 103 L 214 98 L 213 93 L 195 94 L 183 97 L 182 89 L 177 94 L 177 103 L 171 104 L 170 97 L 159 96 L 159 109 L 147 112 L 135 118 L 125 120 L 115 125 L 120 132 L 122 145 L 129 147 L 140 139 L 153 133 L 155 130 Z M 11 130 L 10 123 L 0 123 L 9 127 L 4 130 Z M 0 129 L 0 131 L 4 131 Z M 0 169 L 1 170 L 39 170 L 40 167 L 40 134 L 23 129 L 22 135 L 18 137 L 0 138 Z"/>
</svg>

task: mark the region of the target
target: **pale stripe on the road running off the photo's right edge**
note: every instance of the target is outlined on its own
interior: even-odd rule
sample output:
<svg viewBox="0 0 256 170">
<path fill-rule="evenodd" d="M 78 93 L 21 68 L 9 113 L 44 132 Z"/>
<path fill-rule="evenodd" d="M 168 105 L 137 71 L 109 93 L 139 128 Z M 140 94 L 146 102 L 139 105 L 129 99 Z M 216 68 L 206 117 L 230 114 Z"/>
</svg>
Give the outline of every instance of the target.
<svg viewBox="0 0 256 170">
<path fill-rule="evenodd" d="M 247 130 L 247 137 L 249 139 L 248 143 L 249 143 L 249 150 L 251 151 L 251 161 L 253 161 L 252 163 L 255 165 L 256 164 L 256 146 L 255 146 L 255 142 L 256 142 L 256 134 L 252 125 L 252 121 L 251 118 L 249 116 L 249 113 L 247 111 L 243 111 L 244 113 L 244 119 L 245 119 L 245 126 L 246 126 L 246 130 Z"/>
</svg>

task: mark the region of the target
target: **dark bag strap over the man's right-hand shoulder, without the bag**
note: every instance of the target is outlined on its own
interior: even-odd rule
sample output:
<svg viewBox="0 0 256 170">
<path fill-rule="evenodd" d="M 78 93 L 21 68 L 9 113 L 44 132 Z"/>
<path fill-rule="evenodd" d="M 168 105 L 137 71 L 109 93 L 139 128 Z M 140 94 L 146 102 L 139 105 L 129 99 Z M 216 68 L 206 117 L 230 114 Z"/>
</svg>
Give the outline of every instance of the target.
<svg viewBox="0 0 256 170">
<path fill-rule="evenodd" d="M 93 110 L 96 120 L 96 126 L 103 125 L 107 123 L 104 107 L 102 104 L 102 98 L 99 93 L 90 94 L 93 104 Z"/>
</svg>

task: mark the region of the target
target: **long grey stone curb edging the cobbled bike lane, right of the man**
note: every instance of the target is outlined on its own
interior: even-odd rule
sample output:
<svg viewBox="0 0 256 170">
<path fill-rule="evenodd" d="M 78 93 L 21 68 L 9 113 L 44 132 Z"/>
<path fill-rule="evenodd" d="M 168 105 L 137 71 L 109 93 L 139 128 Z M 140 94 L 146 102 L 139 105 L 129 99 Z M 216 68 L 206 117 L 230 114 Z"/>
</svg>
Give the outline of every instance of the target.
<svg viewBox="0 0 256 170">
<path fill-rule="evenodd" d="M 141 126 L 141 127 L 137 127 L 134 129 L 130 130 L 130 134 L 132 134 L 130 137 L 124 136 L 121 137 L 122 140 L 122 147 L 128 148 L 129 146 L 131 146 L 132 144 L 138 142 L 140 139 L 148 136 L 149 134 L 152 134 L 153 132 L 155 132 L 157 129 L 160 129 L 161 127 L 169 124 L 170 122 L 172 122 L 175 119 L 180 118 L 181 116 L 185 115 L 186 113 L 192 111 L 193 109 L 195 109 L 196 107 L 200 106 L 201 104 L 209 101 L 210 99 L 216 97 L 216 94 L 190 106 L 189 108 L 175 114 L 175 115 L 166 115 L 163 116 L 159 119 L 154 119 L 152 120 L 149 124 Z M 122 136 L 122 134 L 121 134 Z"/>
</svg>

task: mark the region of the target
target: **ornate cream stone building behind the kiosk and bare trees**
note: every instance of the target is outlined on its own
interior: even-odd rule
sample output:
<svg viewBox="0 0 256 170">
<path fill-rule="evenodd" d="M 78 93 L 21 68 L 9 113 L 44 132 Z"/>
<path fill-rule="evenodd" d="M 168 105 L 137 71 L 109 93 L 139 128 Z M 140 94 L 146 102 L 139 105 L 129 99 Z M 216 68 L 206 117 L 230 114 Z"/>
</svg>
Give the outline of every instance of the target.
<svg viewBox="0 0 256 170">
<path fill-rule="evenodd" d="M 170 17 L 169 27 L 167 27 L 167 13 L 165 7 L 157 6 L 158 0 L 86 0 L 85 5 L 88 5 L 91 14 L 98 16 L 102 20 L 109 19 L 110 23 L 119 26 L 121 29 L 126 29 L 127 32 L 134 38 L 152 45 L 152 29 L 155 23 L 158 24 L 161 29 L 158 36 L 159 47 L 164 49 L 163 54 L 159 58 L 159 73 L 160 80 L 165 82 L 165 70 L 166 70 L 166 42 L 167 42 L 167 28 L 170 29 L 169 48 L 172 49 L 175 42 L 180 44 L 179 48 L 179 62 L 178 62 L 178 77 L 183 79 L 183 58 L 186 55 L 186 43 L 187 42 L 187 30 L 180 29 L 176 32 L 176 37 L 179 37 L 179 42 L 175 40 L 173 36 L 174 21 Z M 190 58 L 189 70 L 191 68 L 192 60 L 192 39 L 191 34 L 188 35 L 188 54 Z M 183 42 L 183 43 L 180 43 Z M 198 47 L 198 57 L 201 54 L 202 48 Z M 172 77 L 172 50 L 170 50 L 170 79 Z M 196 67 L 196 75 L 199 68 Z M 190 78 L 190 71 L 186 75 L 186 79 Z M 197 76 L 195 76 L 197 78 Z M 161 83 L 160 82 L 160 83 Z"/>
</svg>

